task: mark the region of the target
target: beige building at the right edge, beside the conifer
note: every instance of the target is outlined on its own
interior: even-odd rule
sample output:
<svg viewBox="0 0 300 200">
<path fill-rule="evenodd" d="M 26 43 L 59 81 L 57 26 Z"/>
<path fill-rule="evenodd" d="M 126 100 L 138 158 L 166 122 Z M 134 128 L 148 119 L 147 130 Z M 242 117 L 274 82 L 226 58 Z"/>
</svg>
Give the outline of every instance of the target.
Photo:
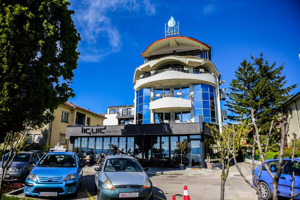
<svg viewBox="0 0 300 200">
<path fill-rule="evenodd" d="M 287 114 L 286 134 L 287 143 L 293 139 L 295 134 L 296 139 L 300 138 L 300 92 L 295 94 L 292 98 L 283 104 L 283 112 Z"/>
</svg>

